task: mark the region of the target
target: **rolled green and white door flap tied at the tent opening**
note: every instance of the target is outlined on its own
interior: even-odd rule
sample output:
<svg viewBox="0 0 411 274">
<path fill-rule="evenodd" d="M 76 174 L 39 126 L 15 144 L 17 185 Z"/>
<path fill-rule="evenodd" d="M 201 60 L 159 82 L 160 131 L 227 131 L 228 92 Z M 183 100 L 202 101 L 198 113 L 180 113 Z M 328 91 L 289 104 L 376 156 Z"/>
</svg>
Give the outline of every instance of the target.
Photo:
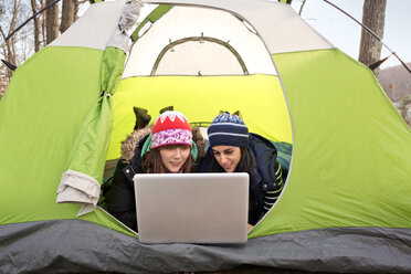
<svg viewBox="0 0 411 274">
<path fill-rule="evenodd" d="M 83 204 L 77 217 L 89 213 L 97 205 L 99 188 L 96 190 L 96 185 L 99 186 L 98 181 L 102 181 L 101 167 L 103 167 L 105 155 L 107 155 L 109 136 L 113 129 L 110 98 L 122 77 L 126 60 L 124 51 L 128 52 L 129 32 L 139 17 L 140 8 L 140 3 L 137 1 L 128 1 L 123 9 L 117 24 L 118 28 L 112 34 L 103 55 L 102 96 L 96 105 L 91 108 L 82 125 L 82 131 L 68 162 L 68 170 L 63 173 L 59 186 L 57 202 Z M 76 171 L 75 180 L 73 180 L 71 170 Z M 84 186 L 80 187 L 81 185 Z M 81 192 L 78 192 L 78 189 L 81 189 Z"/>
</svg>

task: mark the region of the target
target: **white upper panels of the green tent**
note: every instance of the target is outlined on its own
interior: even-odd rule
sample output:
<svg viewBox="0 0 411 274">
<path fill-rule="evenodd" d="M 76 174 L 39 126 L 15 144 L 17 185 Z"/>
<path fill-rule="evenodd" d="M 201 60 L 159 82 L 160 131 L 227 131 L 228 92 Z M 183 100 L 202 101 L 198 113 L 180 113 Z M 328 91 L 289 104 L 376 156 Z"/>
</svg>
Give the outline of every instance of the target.
<svg viewBox="0 0 411 274">
<path fill-rule="evenodd" d="M 211 74 L 211 71 L 219 75 L 242 74 L 243 67 L 239 59 L 230 55 L 228 46 L 232 46 L 241 56 L 250 74 L 276 73 L 270 53 L 334 48 L 306 24 L 289 6 L 277 1 L 146 0 L 145 2 L 177 6 L 138 40 L 124 77 L 150 75 L 158 55 L 170 42 L 175 43 L 192 36 L 213 38 L 225 43 L 226 46 L 209 41 L 200 46 L 199 42 L 176 44 L 173 48 L 176 54 L 166 52 L 158 62 L 157 75 L 176 72 L 197 75 L 199 71 L 202 75 Z M 104 50 L 108 38 L 116 29 L 123 7 L 123 0 L 92 4 L 86 13 L 51 45 Z M 250 23 L 254 30 L 249 30 L 242 20 Z M 190 52 L 191 54 L 188 54 Z M 178 63 L 180 64 L 176 66 Z"/>
</svg>

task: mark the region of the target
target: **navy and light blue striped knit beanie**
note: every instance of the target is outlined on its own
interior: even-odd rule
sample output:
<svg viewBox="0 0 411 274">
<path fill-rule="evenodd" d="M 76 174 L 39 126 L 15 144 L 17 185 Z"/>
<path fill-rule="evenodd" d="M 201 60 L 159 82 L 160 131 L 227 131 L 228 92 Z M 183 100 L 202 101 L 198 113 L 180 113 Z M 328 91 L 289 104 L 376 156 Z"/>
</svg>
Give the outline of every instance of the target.
<svg viewBox="0 0 411 274">
<path fill-rule="evenodd" d="M 249 128 L 239 116 L 226 112 L 212 120 L 207 133 L 209 135 L 210 147 L 249 146 Z"/>
</svg>

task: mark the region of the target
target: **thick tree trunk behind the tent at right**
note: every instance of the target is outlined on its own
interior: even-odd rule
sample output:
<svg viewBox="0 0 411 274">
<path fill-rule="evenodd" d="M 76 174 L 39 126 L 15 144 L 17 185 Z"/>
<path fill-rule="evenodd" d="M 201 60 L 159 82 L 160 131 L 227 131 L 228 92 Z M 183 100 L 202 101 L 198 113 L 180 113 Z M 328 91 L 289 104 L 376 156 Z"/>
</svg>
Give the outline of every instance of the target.
<svg viewBox="0 0 411 274">
<path fill-rule="evenodd" d="M 373 31 L 380 39 L 383 38 L 386 23 L 387 0 L 365 0 L 362 8 L 362 23 Z M 368 31 L 362 29 L 358 61 L 369 66 L 381 57 L 382 44 Z M 376 68 L 373 74 L 378 77 L 380 70 Z"/>
</svg>

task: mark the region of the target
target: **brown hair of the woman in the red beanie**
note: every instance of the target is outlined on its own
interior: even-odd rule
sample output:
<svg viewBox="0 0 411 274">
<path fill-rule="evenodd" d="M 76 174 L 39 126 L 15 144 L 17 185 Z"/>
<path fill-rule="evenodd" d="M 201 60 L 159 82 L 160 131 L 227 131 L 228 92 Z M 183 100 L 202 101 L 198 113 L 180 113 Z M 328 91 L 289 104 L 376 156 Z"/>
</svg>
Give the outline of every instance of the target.
<svg viewBox="0 0 411 274">
<path fill-rule="evenodd" d="M 187 146 L 187 145 L 169 145 L 169 146 L 162 146 L 158 148 L 154 148 L 147 154 L 143 156 L 141 159 L 141 169 L 145 173 L 161 173 L 164 170 L 162 161 L 161 161 L 161 155 L 160 149 L 164 149 L 166 147 L 180 147 L 180 146 Z M 189 157 L 187 157 L 185 165 L 182 165 L 181 171 L 183 173 L 188 173 L 191 170 L 192 166 L 192 156 L 191 152 Z"/>
</svg>

